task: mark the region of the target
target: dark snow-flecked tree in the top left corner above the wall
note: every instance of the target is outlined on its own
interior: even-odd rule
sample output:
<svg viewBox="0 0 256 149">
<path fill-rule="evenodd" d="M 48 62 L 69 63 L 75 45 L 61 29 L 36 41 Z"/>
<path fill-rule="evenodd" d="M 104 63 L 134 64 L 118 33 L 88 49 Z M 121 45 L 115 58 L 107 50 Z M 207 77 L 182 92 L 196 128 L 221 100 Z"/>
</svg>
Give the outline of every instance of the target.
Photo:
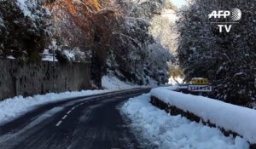
<svg viewBox="0 0 256 149">
<path fill-rule="evenodd" d="M 49 11 L 44 1 L 0 1 L 0 55 L 22 60 L 40 60 L 39 54 L 49 43 Z"/>
</svg>

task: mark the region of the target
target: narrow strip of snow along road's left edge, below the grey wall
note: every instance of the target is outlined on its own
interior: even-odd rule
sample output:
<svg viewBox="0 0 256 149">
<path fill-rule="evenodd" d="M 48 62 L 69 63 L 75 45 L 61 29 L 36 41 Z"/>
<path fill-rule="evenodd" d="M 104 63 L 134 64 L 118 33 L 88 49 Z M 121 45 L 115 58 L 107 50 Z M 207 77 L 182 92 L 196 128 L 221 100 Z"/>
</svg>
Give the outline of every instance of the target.
<svg viewBox="0 0 256 149">
<path fill-rule="evenodd" d="M 17 96 L 0 102 L 0 124 L 7 123 L 14 120 L 15 117 L 32 111 L 36 106 L 46 104 L 49 102 L 67 100 L 67 98 L 96 95 L 107 93 L 113 90 L 86 90 L 81 92 L 65 92 L 61 94 L 50 93 L 47 95 L 34 95 L 31 97 Z"/>
</svg>

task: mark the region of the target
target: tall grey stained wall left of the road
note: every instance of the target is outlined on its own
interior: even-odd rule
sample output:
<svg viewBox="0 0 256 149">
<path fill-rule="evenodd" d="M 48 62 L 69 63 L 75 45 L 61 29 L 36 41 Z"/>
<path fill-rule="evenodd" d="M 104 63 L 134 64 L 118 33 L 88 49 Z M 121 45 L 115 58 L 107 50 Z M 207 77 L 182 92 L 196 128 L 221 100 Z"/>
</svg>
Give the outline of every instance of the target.
<svg viewBox="0 0 256 149">
<path fill-rule="evenodd" d="M 77 91 L 90 88 L 90 64 L 60 65 L 42 61 L 22 64 L 0 59 L 0 100 L 16 95 Z M 55 85 L 54 85 L 55 84 Z"/>
</svg>

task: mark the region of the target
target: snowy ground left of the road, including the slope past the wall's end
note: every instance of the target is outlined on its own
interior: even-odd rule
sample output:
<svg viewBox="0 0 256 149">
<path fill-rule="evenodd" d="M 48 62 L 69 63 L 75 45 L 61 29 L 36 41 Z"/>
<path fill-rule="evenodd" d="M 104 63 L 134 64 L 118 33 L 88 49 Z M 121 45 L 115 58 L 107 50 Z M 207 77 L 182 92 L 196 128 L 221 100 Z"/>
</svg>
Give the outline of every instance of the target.
<svg viewBox="0 0 256 149">
<path fill-rule="evenodd" d="M 26 112 L 32 111 L 36 106 L 44 105 L 59 100 L 67 100 L 68 98 L 97 95 L 120 89 L 134 89 L 137 85 L 121 82 L 116 77 L 102 77 L 102 85 L 104 90 L 84 90 L 81 92 L 65 92 L 60 94 L 49 93 L 47 95 L 34 95 L 30 97 L 17 96 L 15 98 L 6 99 L 0 102 L 0 125 L 14 120 Z"/>
</svg>

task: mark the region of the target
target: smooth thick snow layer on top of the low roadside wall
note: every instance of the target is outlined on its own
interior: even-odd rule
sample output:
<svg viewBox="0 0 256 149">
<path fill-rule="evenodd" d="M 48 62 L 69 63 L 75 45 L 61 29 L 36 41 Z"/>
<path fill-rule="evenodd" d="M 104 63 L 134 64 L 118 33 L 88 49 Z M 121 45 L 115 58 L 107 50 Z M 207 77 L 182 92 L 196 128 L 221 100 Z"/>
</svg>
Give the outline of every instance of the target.
<svg viewBox="0 0 256 149">
<path fill-rule="evenodd" d="M 185 112 L 194 113 L 205 122 L 209 120 L 219 127 L 232 130 L 252 144 L 256 143 L 256 111 L 253 109 L 167 89 L 152 89 L 150 94 Z"/>
</svg>

